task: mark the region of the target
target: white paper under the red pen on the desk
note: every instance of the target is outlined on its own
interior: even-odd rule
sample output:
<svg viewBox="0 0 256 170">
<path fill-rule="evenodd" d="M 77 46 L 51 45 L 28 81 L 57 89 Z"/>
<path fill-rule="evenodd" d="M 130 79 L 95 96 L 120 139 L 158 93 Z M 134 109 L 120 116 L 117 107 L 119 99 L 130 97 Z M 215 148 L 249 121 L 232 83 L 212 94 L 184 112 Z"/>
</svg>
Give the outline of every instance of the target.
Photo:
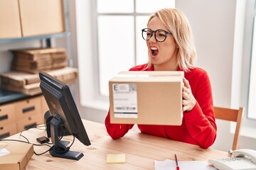
<svg viewBox="0 0 256 170">
<path fill-rule="evenodd" d="M 155 170 L 174 170 L 176 162 L 170 159 L 165 161 L 154 161 Z M 216 170 L 213 166 L 209 166 L 206 161 L 179 161 L 178 166 L 181 170 Z"/>
</svg>

